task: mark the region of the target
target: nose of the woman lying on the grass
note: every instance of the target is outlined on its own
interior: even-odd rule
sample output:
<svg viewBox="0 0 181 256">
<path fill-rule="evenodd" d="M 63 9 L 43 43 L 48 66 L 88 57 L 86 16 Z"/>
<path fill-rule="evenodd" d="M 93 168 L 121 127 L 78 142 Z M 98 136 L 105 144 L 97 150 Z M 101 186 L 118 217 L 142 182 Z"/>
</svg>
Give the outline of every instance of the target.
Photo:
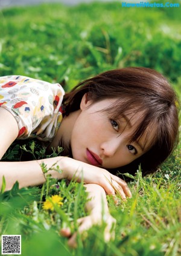
<svg viewBox="0 0 181 256">
<path fill-rule="evenodd" d="M 101 144 L 101 149 L 103 151 L 104 156 L 112 157 L 118 151 L 120 147 L 120 142 L 117 140 L 109 140 L 108 142 L 104 142 Z"/>
</svg>

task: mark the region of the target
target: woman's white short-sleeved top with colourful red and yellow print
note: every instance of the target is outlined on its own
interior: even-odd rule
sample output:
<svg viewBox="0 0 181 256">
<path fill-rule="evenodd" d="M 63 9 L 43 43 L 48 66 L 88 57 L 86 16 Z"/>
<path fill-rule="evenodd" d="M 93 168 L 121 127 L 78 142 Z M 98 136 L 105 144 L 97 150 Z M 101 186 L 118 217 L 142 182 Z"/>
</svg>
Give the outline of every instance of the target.
<svg viewBox="0 0 181 256">
<path fill-rule="evenodd" d="M 18 139 L 51 140 L 62 122 L 64 94 L 60 84 L 25 76 L 0 77 L 0 107 L 15 117 Z"/>
</svg>

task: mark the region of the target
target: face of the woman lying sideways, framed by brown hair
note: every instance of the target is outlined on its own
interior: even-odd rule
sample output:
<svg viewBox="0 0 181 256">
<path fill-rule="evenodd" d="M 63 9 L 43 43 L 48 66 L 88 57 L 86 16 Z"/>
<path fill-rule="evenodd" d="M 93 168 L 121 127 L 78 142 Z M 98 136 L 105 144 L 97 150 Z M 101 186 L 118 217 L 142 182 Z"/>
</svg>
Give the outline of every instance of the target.
<svg viewBox="0 0 181 256">
<path fill-rule="evenodd" d="M 83 96 L 81 111 L 71 134 L 74 159 L 111 169 L 133 162 L 148 150 L 147 144 L 153 136 L 149 136 L 146 145 L 145 136 L 142 136 L 139 142 L 129 142 L 136 123 L 140 122 L 140 114 L 134 117 L 127 114 L 113 120 L 107 111 L 102 111 L 109 108 L 113 102 L 115 99 L 92 103 L 87 100 L 86 94 Z"/>
</svg>

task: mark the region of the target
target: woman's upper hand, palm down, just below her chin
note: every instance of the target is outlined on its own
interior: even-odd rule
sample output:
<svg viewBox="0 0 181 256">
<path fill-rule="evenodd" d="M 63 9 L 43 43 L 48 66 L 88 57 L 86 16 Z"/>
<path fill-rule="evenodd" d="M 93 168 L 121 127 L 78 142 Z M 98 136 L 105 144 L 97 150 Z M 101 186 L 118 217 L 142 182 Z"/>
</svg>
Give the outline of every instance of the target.
<svg viewBox="0 0 181 256">
<path fill-rule="evenodd" d="M 104 188 L 107 194 L 118 194 L 123 200 L 132 197 L 127 183 L 119 177 L 110 174 L 109 171 L 97 166 L 89 165 L 78 160 L 63 157 L 60 166 L 63 168 L 63 176 L 65 179 L 74 179 L 77 182 L 94 183 Z M 60 167 L 61 168 L 61 167 Z"/>
</svg>

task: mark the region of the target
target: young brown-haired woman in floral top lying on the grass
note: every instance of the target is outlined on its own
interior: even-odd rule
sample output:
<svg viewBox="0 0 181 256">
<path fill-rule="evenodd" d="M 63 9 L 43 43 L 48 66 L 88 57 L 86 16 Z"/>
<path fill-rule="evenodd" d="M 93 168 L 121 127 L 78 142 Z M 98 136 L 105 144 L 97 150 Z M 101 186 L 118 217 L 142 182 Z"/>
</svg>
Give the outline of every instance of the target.
<svg viewBox="0 0 181 256">
<path fill-rule="evenodd" d="M 64 95 L 59 84 L 22 76 L 0 78 L 0 157 L 15 139 L 37 137 L 49 141 L 48 150 L 62 146 L 63 156 L 31 162 L 0 162 L 0 180 L 10 189 L 45 182 L 40 164 L 54 163 L 57 179 L 83 178 L 92 200 L 90 215 L 81 218 L 80 232 L 101 221 L 104 208 L 107 229 L 115 220 L 106 193 L 131 197 L 118 169 L 134 174 L 153 172 L 176 146 L 179 130 L 176 94 L 164 76 L 149 68 L 122 68 L 84 80 Z M 0 183 L 1 185 L 1 183 Z M 104 202 L 104 206 L 101 202 Z M 76 234 L 62 234 L 75 245 Z"/>
</svg>

